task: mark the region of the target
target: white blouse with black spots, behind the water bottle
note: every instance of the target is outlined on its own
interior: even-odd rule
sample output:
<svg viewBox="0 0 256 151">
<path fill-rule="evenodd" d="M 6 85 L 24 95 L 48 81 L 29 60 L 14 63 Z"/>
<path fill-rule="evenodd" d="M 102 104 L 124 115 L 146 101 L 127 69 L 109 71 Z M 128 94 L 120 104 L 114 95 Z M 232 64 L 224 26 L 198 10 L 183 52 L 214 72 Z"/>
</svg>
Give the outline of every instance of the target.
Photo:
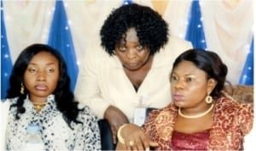
<svg viewBox="0 0 256 151">
<path fill-rule="evenodd" d="M 79 113 L 78 119 L 83 124 L 71 122 L 71 129 L 63 119 L 61 112 L 56 109 L 54 95 L 49 95 L 44 108 L 38 113 L 32 103 L 26 98 L 23 106 L 26 109 L 20 114 L 20 120 L 15 120 L 16 108 L 9 109 L 6 128 L 7 150 L 20 150 L 26 140 L 26 127 L 29 124 L 41 126 L 42 139 L 45 150 L 100 150 L 101 137 L 96 116 L 91 115 L 85 106 Z M 17 98 L 12 98 L 10 104 Z"/>
</svg>

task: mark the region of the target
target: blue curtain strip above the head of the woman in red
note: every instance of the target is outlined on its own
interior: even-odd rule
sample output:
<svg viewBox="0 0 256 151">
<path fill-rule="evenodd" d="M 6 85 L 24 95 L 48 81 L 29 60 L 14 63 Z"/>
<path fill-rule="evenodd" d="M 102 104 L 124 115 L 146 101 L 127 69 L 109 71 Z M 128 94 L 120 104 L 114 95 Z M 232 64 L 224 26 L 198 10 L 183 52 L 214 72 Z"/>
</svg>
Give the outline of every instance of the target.
<svg viewBox="0 0 256 151">
<path fill-rule="evenodd" d="M 193 48 L 207 48 L 205 33 L 201 22 L 201 8 L 198 0 L 191 3 L 189 25 L 185 39 L 192 43 Z"/>
</svg>

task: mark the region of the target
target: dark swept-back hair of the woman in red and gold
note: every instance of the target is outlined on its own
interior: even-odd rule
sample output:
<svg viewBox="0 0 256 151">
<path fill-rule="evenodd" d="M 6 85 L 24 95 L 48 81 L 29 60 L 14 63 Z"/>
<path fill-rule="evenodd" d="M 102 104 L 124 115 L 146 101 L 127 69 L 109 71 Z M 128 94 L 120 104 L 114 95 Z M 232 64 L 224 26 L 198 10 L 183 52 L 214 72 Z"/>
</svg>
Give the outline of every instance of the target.
<svg viewBox="0 0 256 151">
<path fill-rule="evenodd" d="M 212 90 L 211 95 L 216 98 L 221 96 L 220 94 L 224 88 L 228 68 L 219 58 L 217 53 L 200 48 L 189 49 L 177 57 L 173 63 L 172 70 L 183 60 L 190 61 L 194 63 L 197 68 L 205 71 L 207 73 L 207 79 L 215 79 L 218 83 Z"/>
</svg>

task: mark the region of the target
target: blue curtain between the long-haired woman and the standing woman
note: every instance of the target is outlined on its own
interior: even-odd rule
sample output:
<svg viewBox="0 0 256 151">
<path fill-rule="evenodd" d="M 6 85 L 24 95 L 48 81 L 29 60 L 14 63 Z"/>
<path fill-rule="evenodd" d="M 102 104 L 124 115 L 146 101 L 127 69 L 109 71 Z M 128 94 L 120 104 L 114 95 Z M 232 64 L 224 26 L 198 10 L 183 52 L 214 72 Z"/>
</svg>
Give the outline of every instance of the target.
<svg viewBox="0 0 256 151">
<path fill-rule="evenodd" d="M 55 14 L 50 27 L 48 44 L 59 50 L 66 60 L 67 73 L 71 79 L 70 88 L 73 91 L 79 74 L 79 67 L 73 47 L 71 31 L 68 25 L 67 14 L 62 1 L 55 1 Z"/>
</svg>

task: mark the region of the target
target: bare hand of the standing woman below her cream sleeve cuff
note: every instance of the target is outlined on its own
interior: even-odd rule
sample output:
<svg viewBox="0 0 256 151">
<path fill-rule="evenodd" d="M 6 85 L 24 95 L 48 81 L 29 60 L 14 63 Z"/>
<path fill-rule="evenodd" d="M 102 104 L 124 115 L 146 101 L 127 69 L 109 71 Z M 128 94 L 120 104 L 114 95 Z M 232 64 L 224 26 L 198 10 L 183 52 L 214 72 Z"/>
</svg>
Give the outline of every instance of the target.
<svg viewBox="0 0 256 151">
<path fill-rule="evenodd" d="M 110 105 L 105 111 L 104 119 L 108 120 L 112 131 L 113 143 L 117 143 L 117 131 L 120 126 L 129 123 L 128 118 L 120 109 Z"/>
</svg>

